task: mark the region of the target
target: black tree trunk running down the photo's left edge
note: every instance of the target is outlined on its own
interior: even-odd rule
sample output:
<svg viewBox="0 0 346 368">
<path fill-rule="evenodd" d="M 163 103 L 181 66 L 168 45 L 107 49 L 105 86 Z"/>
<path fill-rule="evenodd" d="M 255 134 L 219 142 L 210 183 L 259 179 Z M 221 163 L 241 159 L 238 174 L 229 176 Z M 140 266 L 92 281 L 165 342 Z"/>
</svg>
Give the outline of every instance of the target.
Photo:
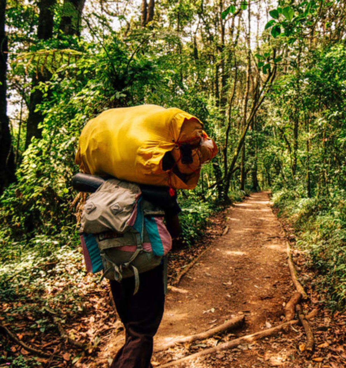
<svg viewBox="0 0 346 368">
<path fill-rule="evenodd" d="M 15 181 L 14 154 L 7 117 L 6 71 L 7 36 L 5 33 L 6 0 L 0 0 L 0 194 Z"/>
</svg>

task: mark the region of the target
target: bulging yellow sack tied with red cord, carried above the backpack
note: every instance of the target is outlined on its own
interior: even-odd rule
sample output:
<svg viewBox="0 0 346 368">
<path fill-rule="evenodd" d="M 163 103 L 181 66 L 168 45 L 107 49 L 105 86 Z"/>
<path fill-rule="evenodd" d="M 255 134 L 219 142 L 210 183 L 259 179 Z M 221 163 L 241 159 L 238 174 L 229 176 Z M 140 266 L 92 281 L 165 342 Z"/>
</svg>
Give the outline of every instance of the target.
<svg viewBox="0 0 346 368">
<path fill-rule="evenodd" d="M 88 174 L 193 189 L 201 164 L 217 153 L 215 143 L 202 128 L 199 119 L 174 107 L 142 105 L 106 110 L 83 128 L 75 163 Z M 192 147 L 190 164 L 181 163 L 182 144 Z M 175 163 L 163 170 L 163 157 L 170 151 Z M 183 175 L 178 177 L 177 170 Z"/>
</svg>

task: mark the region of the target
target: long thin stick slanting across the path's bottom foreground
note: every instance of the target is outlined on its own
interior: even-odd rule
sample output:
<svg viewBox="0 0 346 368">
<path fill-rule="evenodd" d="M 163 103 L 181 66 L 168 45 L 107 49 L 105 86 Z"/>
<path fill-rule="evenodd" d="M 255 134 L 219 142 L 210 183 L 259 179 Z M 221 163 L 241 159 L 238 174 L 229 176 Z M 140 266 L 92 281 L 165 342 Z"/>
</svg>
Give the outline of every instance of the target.
<svg viewBox="0 0 346 368">
<path fill-rule="evenodd" d="M 292 319 L 291 321 L 282 323 L 279 326 L 268 328 L 268 329 L 266 329 L 264 331 L 259 331 L 259 332 L 256 332 L 256 333 L 252 333 L 251 335 L 246 335 L 246 336 L 239 337 L 238 339 L 234 339 L 234 340 L 228 341 L 226 343 L 217 345 L 215 347 L 212 347 L 212 348 L 209 348 L 209 349 L 206 349 L 206 350 L 199 351 L 198 353 L 191 354 L 191 355 L 188 355 L 187 357 L 184 357 L 184 358 L 181 358 L 181 359 L 178 359 L 178 360 L 171 361 L 169 363 L 160 365 L 159 367 L 160 368 L 172 367 L 172 366 L 178 365 L 178 364 L 180 364 L 182 362 L 186 362 L 188 360 L 201 357 L 203 355 L 207 355 L 207 354 L 215 353 L 216 351 L 222 351 L 222 350 L 226 350 L 226 349 L 231 349 L 231 348 L 237 347 L 239 344 L 252 343 L 255 340 L 263 339 L 264 337 L 275 335 L 278 332 L 284 330 L 286 326 L 288 326 L 288 325 L 295 325 L 298 322 L 299 321 L 297 319 Z"/>
</svg>

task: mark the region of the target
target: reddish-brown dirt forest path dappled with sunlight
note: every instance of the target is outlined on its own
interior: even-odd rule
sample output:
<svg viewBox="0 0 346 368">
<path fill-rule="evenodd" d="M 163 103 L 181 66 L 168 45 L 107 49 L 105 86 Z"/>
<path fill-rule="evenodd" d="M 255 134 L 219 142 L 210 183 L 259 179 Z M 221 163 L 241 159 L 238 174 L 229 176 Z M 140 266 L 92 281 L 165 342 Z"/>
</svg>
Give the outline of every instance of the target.
<svg viewBox="0 0 346 368">
<path fill-rule="evenodd" d="M 193 345 L 198 342 L 157 351 L 172 339 L 203 332 L 234 316 L 244 314 L 246 321 L 242 329 L 234 332 L 236 336 L 282 322 L 283 302 L 289 300 L 295 289 L 288 269 L 283 230 L 270 208 L 269 193 L 254 193 L 224 213 L 229 230 L 224 236 L 211 240 L 209 250 L 183 276 L 178 287 L 187 292 L 170 291 L 166 296 L 163 320 L 154 337 L 154 366 L 235 338 L 232 334 L 223 338 L 214 336 L 196 348 Z M 124 332 L 112 339 L 103 354 L 114 356 L 123 342 Z M 280 352 L 284 356 L 280 364 L 288 356 L 286 348 L 281 346 L 275 353 L 275 359 Z M 236 350 L 190 361 L 185 366 L 270 367 L 268 354 L 265 361 L 258 358 L 263 357 L 266 350 L 245 344 Z"/>
</svg>

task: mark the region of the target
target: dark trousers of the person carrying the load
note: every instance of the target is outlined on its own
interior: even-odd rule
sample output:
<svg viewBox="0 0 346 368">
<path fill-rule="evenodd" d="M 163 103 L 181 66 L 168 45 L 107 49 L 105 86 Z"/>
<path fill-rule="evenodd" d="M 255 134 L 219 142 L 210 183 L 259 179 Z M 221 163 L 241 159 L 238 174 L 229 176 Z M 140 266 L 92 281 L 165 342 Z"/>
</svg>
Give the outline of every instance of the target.
<svg viewBox="0 0 346 368">
<path fill-rule="evenodd" d="M 133 295 L 134 277 L 110 281 L 115 307 L 124 323 L 126 340 L 111 368 L 149 368 L 153 336 L 164 308 L 163 265 L 139 275 L 139 290 Z"/>
</svg>

